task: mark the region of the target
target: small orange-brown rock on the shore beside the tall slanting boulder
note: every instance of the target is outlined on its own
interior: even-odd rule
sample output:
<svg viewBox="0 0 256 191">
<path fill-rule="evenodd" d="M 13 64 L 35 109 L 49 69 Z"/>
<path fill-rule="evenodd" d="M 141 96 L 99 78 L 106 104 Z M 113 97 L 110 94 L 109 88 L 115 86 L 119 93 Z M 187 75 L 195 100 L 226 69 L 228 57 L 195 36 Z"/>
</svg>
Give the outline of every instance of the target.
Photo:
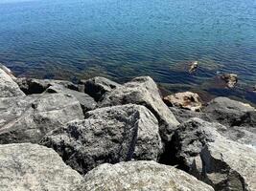
<svg viewBox="0 0 256 191">
<path fill-rule="evenodd" d="M 200 97 L 197 93 L 192 92 L 176 93 L 171 96 L 165 96 L 163 100 L 168 106 L 176 106 L 191 111 L 200 111 L 202 107 Z"/>
</svg>

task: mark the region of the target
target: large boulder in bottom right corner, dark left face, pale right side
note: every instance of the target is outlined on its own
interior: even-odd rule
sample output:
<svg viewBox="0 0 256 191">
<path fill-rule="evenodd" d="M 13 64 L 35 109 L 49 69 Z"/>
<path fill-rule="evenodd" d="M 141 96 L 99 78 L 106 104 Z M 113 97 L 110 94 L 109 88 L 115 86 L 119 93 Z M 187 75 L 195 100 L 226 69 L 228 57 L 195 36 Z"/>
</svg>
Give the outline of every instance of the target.
<svg viewBox="0 0 256 191">
<path fill-rule="evenodd" d="M 222 137 L 216 126 L 199 118 L 180 124 L 174 136 L 176 159 L 216 190 L 255 190 L 255 148 Z"/>
</svg>

